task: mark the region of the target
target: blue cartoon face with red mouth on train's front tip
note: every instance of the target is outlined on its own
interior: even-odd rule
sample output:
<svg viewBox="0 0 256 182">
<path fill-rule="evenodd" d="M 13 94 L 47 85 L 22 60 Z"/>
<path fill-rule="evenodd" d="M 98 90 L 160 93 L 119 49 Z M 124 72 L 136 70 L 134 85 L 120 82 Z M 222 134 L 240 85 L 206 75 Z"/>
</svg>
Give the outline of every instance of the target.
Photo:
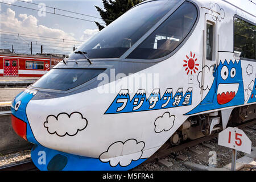
<svg viewBox="0 0 256 182">
<path fill-rule="evenodd" d="M 11 103 L 11 124 L 13 125 L 15 133 L 20 137 L 24 138 L 28 142 L 38 144 L 32 134 L 26 114 L 27 104 L 35 94 L 35 90 L 26 89 L 14 98 Z"/>
</svg>

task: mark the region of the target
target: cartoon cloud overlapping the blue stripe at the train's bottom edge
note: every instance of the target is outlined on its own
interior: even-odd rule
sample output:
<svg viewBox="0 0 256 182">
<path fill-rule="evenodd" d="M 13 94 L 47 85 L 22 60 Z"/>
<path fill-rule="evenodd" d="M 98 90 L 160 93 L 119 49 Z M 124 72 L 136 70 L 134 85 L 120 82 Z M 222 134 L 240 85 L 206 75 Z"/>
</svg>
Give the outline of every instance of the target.
<svg viewBox="0 0 256 182">
<path fill-rule="evenodd" d="M 122 167 L 129 166 L 132 161 L 141 158 L 144 146 L 144 142 L 137 142 L 135 139 L 126 140 L 125 143 L 115 142 L 109 146 L 108 151 L 99 156 L 99 159 L 101 162 L 109 162 L 112 167 L 118 164 Z"/>
</svg>

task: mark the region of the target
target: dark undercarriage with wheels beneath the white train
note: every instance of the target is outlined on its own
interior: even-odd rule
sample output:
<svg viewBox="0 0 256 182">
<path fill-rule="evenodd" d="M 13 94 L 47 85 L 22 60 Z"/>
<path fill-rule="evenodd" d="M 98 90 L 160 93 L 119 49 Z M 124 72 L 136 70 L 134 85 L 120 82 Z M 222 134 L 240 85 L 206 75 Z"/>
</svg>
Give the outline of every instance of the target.
<svg viewBox="0 0 256 182">
<path fill-rule="evenodd" d="M 159 149 L 166 150 L 170 146 L 210 136 L 223 130 L 221 111 L 189 117 L 183 125 Z M 256 118 L 256 104 L 236 107 L 228 118 L 228 126 L 237 126 Z"/>
</svg>

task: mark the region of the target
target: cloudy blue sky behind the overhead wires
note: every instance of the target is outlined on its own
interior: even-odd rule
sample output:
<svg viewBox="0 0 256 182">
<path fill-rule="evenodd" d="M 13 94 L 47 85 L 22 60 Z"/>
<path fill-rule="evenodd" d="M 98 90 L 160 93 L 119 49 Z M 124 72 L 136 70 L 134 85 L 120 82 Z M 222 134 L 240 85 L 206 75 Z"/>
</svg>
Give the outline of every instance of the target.
<svg viewBox="0 0 256 182">
<path fill-rule="evenodd" d="M 55 7 L 56 9 L 74 11 L 76 13 L 96 16 L 98 18 L 100 18 L 100 15 L 98 14 L 98 11 L 94 6 L 96 5 L 103 8 L 102 0 L 22 1 L 32 2 L 36 4 L 44 3 L 46 6 Z M 32 42 L 32 49 L 34 48 L 33 53 L 40 52 L 40 45 L 43 45 L 43 49 L 46 50 L 44 52 L 52 52 L 51 49 L 55 49 L 55 53 L 69 53 L 72 51 L 72 47 L 75 46 L 77 48 L 81 43 L 86 42 L 93 35 L 96 35 L 98 33 L 98 28 L 94 22 L 88 22 L 80 19 L 86 19 L 91 21 L 96 20 L 97 22 L 103 22 L 101 19 L 72 14 L 68 13 L 67 11 L 60 10 L 56 10 L 56 13 L 73 16 L 80 19 L 73 19 L 48 13 L 46 13 L 45 15 L 43 14 L 42 16 L 42 11 L 37 11 L 42 8 L 42 6 L 39 8 L 38 5 L 32 5 L 30 3 L 20 2 L 16 0 L 0 0 L 0 2 L 36 9 L 30 10 L 24 9 L 22 7 L 16 7 L 0 3 L 0 48 L 10 49 L 11 44 L 14 44 L 15 52 L 20 53 L 30 52 L 30 40 L 40 41 L 38 42 L 38 45 L 36 45 L 36 42 Z M 46 11 L 53 13 L 54 10 L 46 7 Z M 26 35 L 21 35 L 18 37 L 18 34 L 9 34 L 6 32 Z M 39 38 L 34 36 L 31 36 L 30 38 L 25 38 L 24 36 L 27 35 L 45 36 L 57 39 Z M 64 43 L 61 43 L 61 40 L 59 39 L 64 39 Z M 52 40 L 56 40 L 56 42 L 52 42 Z M 74 42 L 74 40 L 79 40 L 82 42 Z M 10 46 L 5 46 L 6 44 Z"/>
</svg>

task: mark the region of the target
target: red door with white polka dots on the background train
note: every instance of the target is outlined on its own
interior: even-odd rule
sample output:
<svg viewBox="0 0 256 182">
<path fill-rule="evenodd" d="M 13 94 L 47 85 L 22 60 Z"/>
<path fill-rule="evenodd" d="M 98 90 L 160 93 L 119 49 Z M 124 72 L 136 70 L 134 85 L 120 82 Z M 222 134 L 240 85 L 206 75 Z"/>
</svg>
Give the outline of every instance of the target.
<svg viewBox="0 0 256 182">
<path fill-rule="evenodd" d="M 18 59 L 4 59 L 3 76 L 18 76 Z"/>
</svg>

